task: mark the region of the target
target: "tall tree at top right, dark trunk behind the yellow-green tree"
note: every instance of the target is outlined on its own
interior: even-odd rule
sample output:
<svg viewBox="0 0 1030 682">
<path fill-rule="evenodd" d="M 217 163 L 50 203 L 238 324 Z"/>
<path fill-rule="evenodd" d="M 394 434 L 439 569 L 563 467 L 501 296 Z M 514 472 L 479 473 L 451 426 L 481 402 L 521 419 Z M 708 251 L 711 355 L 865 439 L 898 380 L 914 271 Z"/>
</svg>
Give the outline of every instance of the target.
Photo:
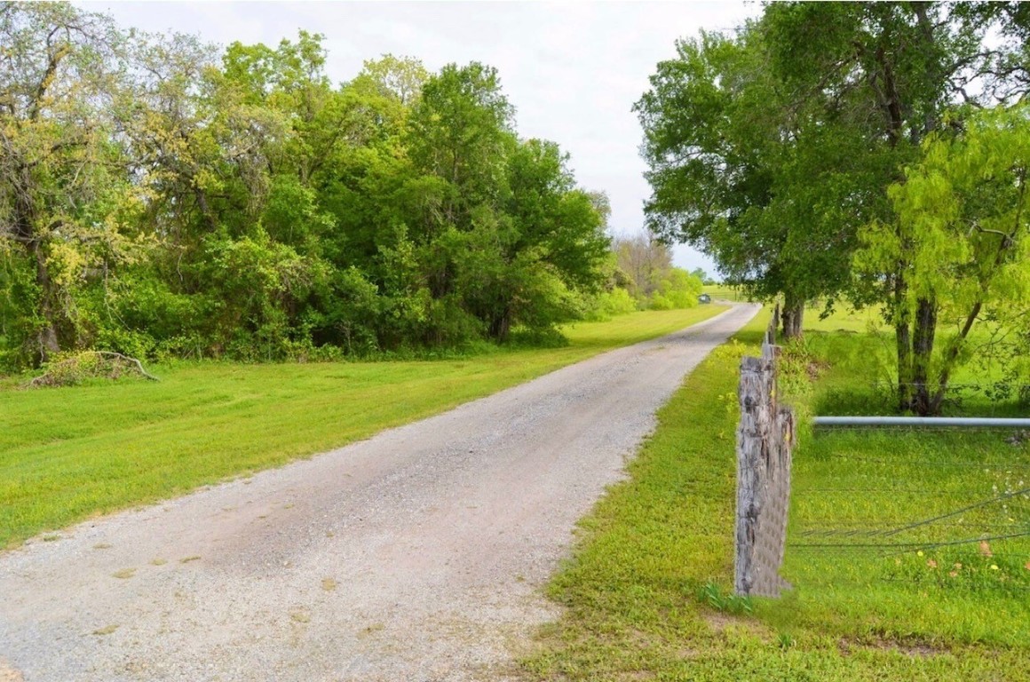
<svg viewBox="0 0 1030 682">
<path fill-rule="evenodd" d="M 855 122 L 852 134 L 884 160 L 865 178 L 860 205 L 889 208 L 887 187 L 903 178 L 902 168 L 919 159 L 949 110 L 1026 92 L 1025 13 L 1002 3 L 791 3 L 770 5 L 764 21 L 772 68 L 795 98 L 824 99 L 820 116 Z M 1010 39 L 992 46 L 992 33 Z M 960 116 L 950 121 L 960 126 Z M 842 221 L 853 235 L 871 216 L 902 239 L 905 228 L 894 215 L 880 208 Z M 939 409 L 927 388 L 938 311 L 932 298 L 911 302 L 908 252 L 900 249 L 885 279 L 866 280 L 871 285 L 854 294 L 860 303 L 884 304 L 895 330 L 898 406 L 925 414 Z"/>
</svg>

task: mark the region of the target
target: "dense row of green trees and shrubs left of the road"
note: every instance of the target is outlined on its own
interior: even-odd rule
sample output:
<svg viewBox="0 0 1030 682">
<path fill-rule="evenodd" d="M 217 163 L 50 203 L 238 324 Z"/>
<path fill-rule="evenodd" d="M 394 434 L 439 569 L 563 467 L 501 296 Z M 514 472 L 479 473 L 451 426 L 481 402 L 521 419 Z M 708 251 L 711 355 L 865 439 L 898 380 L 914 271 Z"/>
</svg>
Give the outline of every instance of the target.
<svg viewBox="0 0 1030 682">
<path fill-rule="evenodd" d="M 544 338 L 600 288 L 610 209 L 518 138 L 491 67 L 386 56 L 337 88 L 318 34 L 219 55 L 62 3 L 5 4 L 0 36 L 8 369 Z"/>
</svg>

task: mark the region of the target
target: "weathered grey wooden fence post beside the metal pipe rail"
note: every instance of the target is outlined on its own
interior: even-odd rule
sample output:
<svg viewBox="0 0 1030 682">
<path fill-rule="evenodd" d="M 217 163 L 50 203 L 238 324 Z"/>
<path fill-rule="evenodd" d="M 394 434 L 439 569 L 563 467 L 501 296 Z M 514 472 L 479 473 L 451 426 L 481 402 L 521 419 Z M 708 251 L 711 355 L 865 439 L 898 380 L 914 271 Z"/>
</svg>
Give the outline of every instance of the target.
<svg viewBox="0 0 1030 682">
<path fill-rule="evenodd" d="M 737 594 L 779 596 L 787 539 L 794 413 L 777 404 L 776 328 L 779 308 L 762 343 L 761 357 L 741 359 L 741 420 L 736 429 L 736 542 L 733 589 Z"/>
</svg>

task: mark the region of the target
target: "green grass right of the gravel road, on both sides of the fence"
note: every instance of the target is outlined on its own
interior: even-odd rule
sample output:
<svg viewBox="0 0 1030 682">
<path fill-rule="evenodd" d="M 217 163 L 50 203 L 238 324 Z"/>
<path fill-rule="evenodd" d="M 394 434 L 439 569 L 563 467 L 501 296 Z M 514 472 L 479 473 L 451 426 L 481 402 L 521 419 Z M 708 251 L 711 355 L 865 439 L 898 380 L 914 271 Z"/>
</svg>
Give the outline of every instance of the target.
<svg viewBox="0 0 1030 682">
<path fill-rule="evenodd" d="M 802 414 L 866 400 L 864 348 L 879 341 L 855 332 L 868 320 L 810 318 L 845 331 L 806 333 L 781 388 Z M 565 616 L 527 677 L 1030 679 L 1030 444 L 1010 434 L 802 430 L 783 569 L 794 588 L 730 595 L 737 359 L 766 319 L 688 377 L 630 479 L 584 520 L 551 585 Z"/>
</svg>

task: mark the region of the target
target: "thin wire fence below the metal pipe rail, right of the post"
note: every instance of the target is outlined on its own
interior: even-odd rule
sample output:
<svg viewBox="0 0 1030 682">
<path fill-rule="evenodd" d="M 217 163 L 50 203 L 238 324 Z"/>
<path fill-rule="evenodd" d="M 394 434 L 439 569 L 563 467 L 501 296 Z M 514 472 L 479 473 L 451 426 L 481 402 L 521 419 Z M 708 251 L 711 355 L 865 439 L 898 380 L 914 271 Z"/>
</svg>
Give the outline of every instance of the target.
<svg viewBox="0 0 1030 682">
<path fill-rule="evenodd" d="M 784 576 L 937 593 L 1030 589 L 1030 452 L 1005 433 L 832 432 L 795 456 Z"/>
</svg>

